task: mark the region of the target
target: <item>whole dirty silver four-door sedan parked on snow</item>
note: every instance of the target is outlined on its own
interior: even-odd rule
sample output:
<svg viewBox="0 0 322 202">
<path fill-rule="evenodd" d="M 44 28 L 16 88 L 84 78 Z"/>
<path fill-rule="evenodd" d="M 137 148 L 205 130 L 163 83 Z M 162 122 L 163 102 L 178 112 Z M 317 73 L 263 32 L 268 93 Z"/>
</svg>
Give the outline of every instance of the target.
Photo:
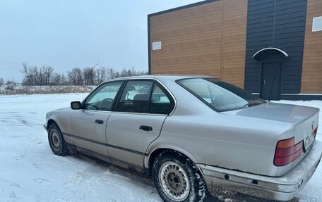
<svg viewBox="0 0 322 202">
<path fill-rule="evenodd" d="M 287 201 L 314 174 L 318 108 L 271 103 L 214 77 L 125 77 L 50 111 L 59 156 L 85 153 L 152 177 L 164 201 L 243 194 Z"/>
</svg>

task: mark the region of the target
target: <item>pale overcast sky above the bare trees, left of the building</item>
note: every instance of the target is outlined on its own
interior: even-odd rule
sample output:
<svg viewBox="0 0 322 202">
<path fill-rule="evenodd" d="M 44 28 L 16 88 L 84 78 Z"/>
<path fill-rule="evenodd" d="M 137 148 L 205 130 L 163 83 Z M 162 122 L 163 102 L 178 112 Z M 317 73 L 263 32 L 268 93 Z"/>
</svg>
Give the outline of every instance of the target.
<svg viewBox="0 0 322 202">
<path fill-rule="evenodd" d="M 22 63 L 147 71 L 147 15 L 196 2 L 0 0 L 0 77 L 20 82 Z"/>
</svg>

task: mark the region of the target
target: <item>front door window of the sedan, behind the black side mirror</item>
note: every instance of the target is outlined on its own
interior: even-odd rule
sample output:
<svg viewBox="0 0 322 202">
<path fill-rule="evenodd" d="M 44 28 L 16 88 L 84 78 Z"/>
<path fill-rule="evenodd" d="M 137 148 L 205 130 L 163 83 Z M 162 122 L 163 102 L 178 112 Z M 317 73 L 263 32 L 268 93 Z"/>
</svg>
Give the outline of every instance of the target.
<svg viewBox="0 0 322 202">
<path fill-rule="evenodd" d="M 117 92 L 123 82 L 103 84 L 90 94 L 83 106 L 84 109 L 95 111 L 111 111 Z"/>
</svg>

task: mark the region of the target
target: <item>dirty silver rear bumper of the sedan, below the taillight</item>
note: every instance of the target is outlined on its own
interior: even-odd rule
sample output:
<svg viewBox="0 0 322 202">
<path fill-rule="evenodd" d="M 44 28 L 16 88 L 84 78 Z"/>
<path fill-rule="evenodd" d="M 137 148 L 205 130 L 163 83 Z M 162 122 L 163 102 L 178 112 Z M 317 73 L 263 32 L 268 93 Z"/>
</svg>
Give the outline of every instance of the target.
<svg viewBox="0 0 322 202">
<path fill-rule="evenodd" d="M 235 170 L 197 164 L 213 196 L 237 196 L 238 193 L 289 201 L 314 174 L 322 156 L 322 142 L 315 141 L 311 151 L 290 172 L 281 177 L 267 177 Z M 219 194 L 219 195 L 218 195 Z"/>
</svg>

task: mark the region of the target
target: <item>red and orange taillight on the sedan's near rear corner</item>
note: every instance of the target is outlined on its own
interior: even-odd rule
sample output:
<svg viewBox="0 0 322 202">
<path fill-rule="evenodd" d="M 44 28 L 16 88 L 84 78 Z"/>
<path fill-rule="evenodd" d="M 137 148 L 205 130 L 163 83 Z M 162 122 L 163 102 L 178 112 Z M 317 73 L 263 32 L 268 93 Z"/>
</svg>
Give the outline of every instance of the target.
<svg viewBox="0 0 322 202">
<path fill-rule="evenodd" d="M 301 156 L 303 151 L 303 141 L 294 145 L 294 137 L 278 141 L 275 150 L 274 165 L 284 166 L 292 163 Z"/>
</svg>

